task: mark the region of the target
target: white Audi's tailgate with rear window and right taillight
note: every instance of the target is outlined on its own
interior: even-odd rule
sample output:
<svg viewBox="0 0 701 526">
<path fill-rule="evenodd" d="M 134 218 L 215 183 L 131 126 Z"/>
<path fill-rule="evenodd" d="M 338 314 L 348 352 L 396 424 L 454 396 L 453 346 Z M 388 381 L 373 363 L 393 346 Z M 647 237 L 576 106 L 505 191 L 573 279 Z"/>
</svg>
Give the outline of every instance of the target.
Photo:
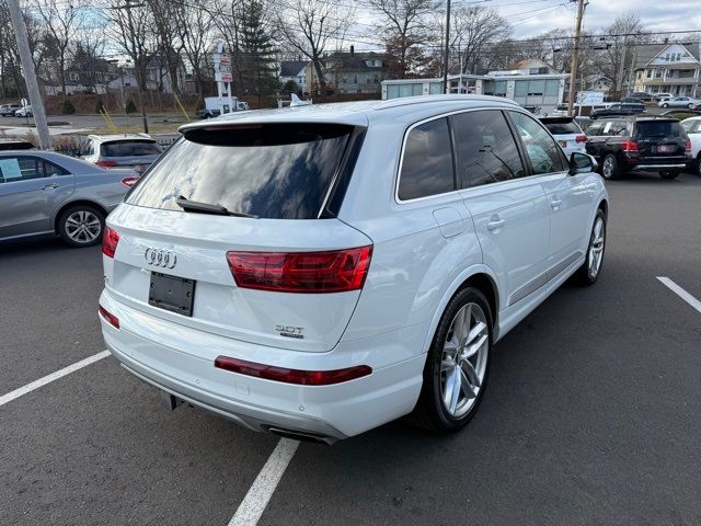
<svg viewBox="0 0 701 526">
<path fill-rule="evenodd" d="M 322 209 L 354 127 L 191 129 L 110 216 L 123 302 L 237 340 L 324 352 L 360 296 L 371 241 Z"/>
</svg>

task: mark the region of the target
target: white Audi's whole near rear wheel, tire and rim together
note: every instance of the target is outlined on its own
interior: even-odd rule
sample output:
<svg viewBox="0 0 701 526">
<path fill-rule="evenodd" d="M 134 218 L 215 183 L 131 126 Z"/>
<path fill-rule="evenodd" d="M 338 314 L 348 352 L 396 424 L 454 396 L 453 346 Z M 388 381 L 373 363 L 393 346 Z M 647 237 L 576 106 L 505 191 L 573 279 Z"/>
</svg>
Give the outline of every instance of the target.
<svg viewBox="0 0 701 526">
<path fill-rule="evenodd" d="M 479 289 L 467 287 L 452 297 L 426 357 L 412 422 L 438 433 L 468 424 L 486 388 L 492 324 L 490 304 Z"/>
</svg>

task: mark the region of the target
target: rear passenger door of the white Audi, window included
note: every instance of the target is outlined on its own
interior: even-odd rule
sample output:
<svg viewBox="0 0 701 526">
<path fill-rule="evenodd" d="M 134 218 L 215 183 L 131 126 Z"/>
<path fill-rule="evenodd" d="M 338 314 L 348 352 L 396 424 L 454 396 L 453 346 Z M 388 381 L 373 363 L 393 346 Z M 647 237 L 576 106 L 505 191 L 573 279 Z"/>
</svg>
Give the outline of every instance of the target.
<svg viewBox="0 0 701 526">
<path fill-rule="evenodd" d="M 458 181 L 472 215 L 484 264 L 496 274 L 508 307 L 545 284 L 550 213 L 537 178 L 528 178 L 499 110 L 452 115 Z"/>
</svg>

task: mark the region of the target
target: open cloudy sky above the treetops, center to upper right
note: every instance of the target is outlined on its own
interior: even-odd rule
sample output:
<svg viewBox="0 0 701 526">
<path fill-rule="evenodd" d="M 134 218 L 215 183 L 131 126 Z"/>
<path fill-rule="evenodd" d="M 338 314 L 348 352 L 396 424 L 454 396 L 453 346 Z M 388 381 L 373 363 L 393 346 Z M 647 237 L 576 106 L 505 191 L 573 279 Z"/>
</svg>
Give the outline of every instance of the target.
<svg viewBox="0 0 701 526">
<path fill-rule="evenodd" d="M 574 30 L 577 12 L 576 1 L 571 0 L 452 0 L 452 5 L 495 9 L 512 24 L 515 38 L 536 36 L 556 28 Z M 610 25 L 617 16 L 628 11 L 637 12 L 648 31 L 701 31 L 701 0 L 589 0 L 585 10 L 584 31 L 594 32 Z M 359 10 L 357 15 L 359 24 L 352 30 L 354 35 L 367 32 L 372 22 L 372 16 L 367 12 Z M 356 46 L 369 47 L 363 42 L 356 42 Z"/>
</svg>

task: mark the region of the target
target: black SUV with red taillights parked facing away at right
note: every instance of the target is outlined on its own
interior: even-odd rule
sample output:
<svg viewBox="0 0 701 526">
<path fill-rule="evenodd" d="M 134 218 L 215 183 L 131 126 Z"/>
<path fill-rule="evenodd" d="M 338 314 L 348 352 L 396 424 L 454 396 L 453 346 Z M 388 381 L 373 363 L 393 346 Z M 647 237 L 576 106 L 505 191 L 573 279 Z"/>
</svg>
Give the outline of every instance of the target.
<svg viewBox="0 0 701 526">
<path fill-rule="evenodd" d="M 691 160 L 691 141 L 675 118 L 607 118 L 591 123 L 586 135 L 587 153 L 599 161 L 605 179 L 629 170 L 675 179 Z"/>
</svg>

